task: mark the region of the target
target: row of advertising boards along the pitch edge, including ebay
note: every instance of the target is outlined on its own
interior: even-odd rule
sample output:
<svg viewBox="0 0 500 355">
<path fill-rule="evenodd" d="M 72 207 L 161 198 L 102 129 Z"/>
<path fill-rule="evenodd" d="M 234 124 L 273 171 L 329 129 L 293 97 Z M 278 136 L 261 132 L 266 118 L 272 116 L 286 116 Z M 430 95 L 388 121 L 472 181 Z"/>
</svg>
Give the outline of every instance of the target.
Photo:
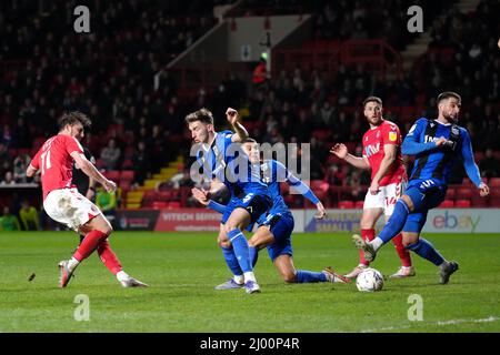
<svg viewBox="0 0 500 355">
<path fill-rule="evenodd" d="M 359 232 L 362 210 L 327 210 L 317 221 L 316 210 L 292 210 L 296 233 Z M 117 230 L 158 232 L 217 232 L 220 214 L 207 209 L 120 210 Z M 377 224 L 380 230 L 383 219 Z M 500 209 L 438 209 L 429 212 L 427 233 L 500 233 Z"/>
</svg>

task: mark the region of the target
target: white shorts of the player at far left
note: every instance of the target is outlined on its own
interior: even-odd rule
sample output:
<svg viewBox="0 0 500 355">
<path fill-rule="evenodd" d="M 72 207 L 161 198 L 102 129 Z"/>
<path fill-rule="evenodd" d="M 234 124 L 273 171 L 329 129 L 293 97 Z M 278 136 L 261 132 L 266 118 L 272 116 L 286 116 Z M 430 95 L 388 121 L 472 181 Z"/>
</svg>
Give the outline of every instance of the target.
<svg viewBox="0 0 500 355">
<path fill-rule="evenodd" d="M 43 201 L 43 209 L 54 221 L 73 231 L 102 214 L 102 212 L 77 189 L 52 190 Z"/>
</svg>

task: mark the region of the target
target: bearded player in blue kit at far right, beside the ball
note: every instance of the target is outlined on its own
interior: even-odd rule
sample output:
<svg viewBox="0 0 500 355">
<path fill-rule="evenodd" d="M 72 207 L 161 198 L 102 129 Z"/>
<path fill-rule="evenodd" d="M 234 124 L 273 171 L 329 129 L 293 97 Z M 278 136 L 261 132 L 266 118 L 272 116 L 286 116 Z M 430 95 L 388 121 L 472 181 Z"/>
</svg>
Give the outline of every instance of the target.
<svg viewBox="0 0 500 355">
<path fill-rule="evenodd" d="M 403 231 L 403 244 L 439 267 L 440 283 L 448 283 L 459 265 L 446 261 L 431 243 L 420 237 L 427 213 L 441 204 L 448 189 L 448 178 L 453 162 L 461 158 L 467 175 L 478 186 L 481 196 L 490 189 L 481 181 L 476 165 L 469 133 L 457 125 L 461 98 L 454 92 L 438 97 L 438 119 L 419 119 L 408 132 L 402 153 L 416 155 L 408 189 L 396 203 L 394 212 L 380 234 L 371 242 L 353 235 L 353 242 L 364 252 L 367 261 L 373 261 L 377 251 Z"/>
</svg>

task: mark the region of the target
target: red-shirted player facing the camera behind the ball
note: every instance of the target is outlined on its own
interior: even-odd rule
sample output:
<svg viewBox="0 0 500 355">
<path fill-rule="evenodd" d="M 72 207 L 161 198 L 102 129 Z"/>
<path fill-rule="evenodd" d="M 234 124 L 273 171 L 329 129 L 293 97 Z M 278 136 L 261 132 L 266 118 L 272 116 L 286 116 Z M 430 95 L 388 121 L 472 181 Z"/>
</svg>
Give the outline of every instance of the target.
<svg viewBox="0 0 500 355">
<path fill-rule="evenodd" d="M 356 168 L 371 169 L 371 185 L 364 197 L 360 226 L 361 237 L 364 241 L 372 241 L 377 221 L 382 213 L 386 214 L 386 222 L 390 217 L 396 201 L 404 192 L 408 178 L 401 156 L 401 133 L 394 123 L 382 118 L 382 100 L 377 97 L 367 98 L 363 101 L 363 114 L 370 124 L 362 140 L 363 156 L 349 154 L 344 144 L 336 144 L 330 153 Z M 390 277 L 414 276 L 410 253 L 402 244 L 402 235 L 398 234 L 392 243 L 401 261 L 401 267 Z M 344 276 L 356 278 L 368 265 L 370 263 L 360 252 L 358 266 Z"/>
</svg>

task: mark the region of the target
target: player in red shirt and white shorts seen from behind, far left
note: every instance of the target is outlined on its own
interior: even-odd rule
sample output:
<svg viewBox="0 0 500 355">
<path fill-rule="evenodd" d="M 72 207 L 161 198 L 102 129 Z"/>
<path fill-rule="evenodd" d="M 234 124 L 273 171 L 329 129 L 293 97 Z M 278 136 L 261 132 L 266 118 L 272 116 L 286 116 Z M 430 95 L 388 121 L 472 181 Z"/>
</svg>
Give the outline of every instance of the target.
<svg viewBox="0 0 500 355">
<path fill-rule="evenodd" d="M 87 175 L 101 183 L 107 191 L 117 189 L 114 182 L 106 179 L 87 160 L 78 142 L 84 134 L 83 129 L 90 124 L 90 119 L 81 112 L 63 114 L 59 119 L 59 134 L 43 143 L 27 170 L 27 176 L 33 176 L 37 171 L 41 171 L 43 207 L 47 214 L 84 235 L 73 256 L 59 263 L 59 286 L 66 287 L 77 266 L 94 251 L 123 287 L 148 286 L 122 270 L 107 241 L 112 232 L 111 224 L 71 183 L 74 161 Z"/>
</svg>

